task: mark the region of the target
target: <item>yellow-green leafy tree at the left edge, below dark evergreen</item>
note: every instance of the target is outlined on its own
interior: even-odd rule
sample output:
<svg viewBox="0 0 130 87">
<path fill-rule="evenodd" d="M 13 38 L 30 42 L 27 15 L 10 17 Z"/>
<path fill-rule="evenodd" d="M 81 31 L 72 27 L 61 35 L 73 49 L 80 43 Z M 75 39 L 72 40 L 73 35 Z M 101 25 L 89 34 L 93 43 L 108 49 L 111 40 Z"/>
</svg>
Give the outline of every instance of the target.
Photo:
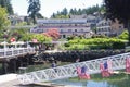
<svg viewBox="0 0 130 87">
<path fill-rule="evenodd" d="M 4 32 L 8 32 L 8 26 L 10 26 L 10 24 L 6 10 L 0 7 L 0 36 L 2 36 Z"/>
</svg>

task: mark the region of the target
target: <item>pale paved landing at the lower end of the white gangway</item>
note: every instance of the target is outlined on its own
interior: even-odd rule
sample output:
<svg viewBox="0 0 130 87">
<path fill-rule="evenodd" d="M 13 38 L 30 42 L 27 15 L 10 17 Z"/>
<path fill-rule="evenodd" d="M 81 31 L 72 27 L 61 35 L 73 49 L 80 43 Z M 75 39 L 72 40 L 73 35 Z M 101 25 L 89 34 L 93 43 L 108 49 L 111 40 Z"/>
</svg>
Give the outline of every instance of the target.
<svg viewBox="0 0 130 87">
<path fill-rule="evenodd" d="M 5 74 L 0 75 L 0 87 L 72 87 L 65 85 L 57 85 L 52 83 L 38 83 L 28 86 L 21 86 L 16 78 L 17 74 Z"/>
</svg>

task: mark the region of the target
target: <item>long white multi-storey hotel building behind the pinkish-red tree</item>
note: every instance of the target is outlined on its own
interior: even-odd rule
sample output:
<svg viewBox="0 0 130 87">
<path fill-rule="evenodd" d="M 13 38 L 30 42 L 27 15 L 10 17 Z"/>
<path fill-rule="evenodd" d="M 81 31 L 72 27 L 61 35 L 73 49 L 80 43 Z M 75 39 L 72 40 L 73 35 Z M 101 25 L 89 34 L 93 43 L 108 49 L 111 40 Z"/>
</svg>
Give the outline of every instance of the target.
<svg viewBox="0 0 130 87">
<path fill-rule="evenodd" d="M 30 33 L 44 33 L 50 28 L 57 28 L 61 38 L 72 35 L 83 35 L 89 38 L 92 35 L 87 18 L 37 20 L 37 27 L 31 28 Z"/>
</svg>

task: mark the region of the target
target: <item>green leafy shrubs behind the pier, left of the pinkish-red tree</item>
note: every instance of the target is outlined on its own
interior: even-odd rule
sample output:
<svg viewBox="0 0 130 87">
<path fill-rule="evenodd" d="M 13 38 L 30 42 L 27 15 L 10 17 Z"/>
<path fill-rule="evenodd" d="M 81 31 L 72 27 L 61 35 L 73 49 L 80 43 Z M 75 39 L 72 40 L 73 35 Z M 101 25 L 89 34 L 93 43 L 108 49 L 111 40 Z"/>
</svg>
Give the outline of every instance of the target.
<svg viewBox="0 0 130 87">
<path fill-rule="evenodd" d="M 28 28 L 15 28 L 15 29 L 10 32 L 9 36 L 10 36 L 9 39 L 14 37 L 16 39 L 16 41 L 18 41 L 18 40 L 32 41 L 32 39 L 37 39 L 38 42 L 44 42 L 44 41 L 51 41 L 52 40 L 52 38 L 47 37 L 42 34 L 29 33 Z"/>
</svg>

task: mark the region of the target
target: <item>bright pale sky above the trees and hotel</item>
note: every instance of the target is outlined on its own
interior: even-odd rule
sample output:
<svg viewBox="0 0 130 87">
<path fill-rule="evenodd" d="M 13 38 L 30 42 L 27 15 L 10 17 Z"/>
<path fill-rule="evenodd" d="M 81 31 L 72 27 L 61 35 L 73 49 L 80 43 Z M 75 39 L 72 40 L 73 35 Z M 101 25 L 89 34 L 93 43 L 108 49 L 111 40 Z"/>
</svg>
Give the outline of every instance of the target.
<svg viewBox="0 0 130 87">
<path fill-rule="evenodd" d="M 101 5 L 103 3 L 103 0 L 40 0 L 40 13 L 49 18 L 53 13 L 62 11 L 64 8 L 67 8 L 68 11 L 74 8 L 77 10 L 79 8 L 86 9 L 96 4 Z M 27 0 L 12 0 L 11 3 L 14 13 L 18 15 L 27 15 Z"/>
</svg>

